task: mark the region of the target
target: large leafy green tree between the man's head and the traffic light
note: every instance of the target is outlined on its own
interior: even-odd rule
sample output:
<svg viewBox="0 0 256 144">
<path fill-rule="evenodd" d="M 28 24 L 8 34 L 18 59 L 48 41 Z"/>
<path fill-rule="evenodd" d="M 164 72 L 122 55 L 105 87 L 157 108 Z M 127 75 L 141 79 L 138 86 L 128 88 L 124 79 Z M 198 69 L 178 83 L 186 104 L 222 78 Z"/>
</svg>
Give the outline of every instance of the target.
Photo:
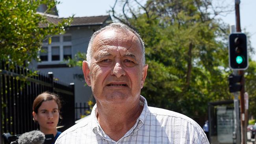
<svg viewBox="0 0 256 144">
<path fill-rule="evenodd" d="M 232 99 L 228 26 L 215 18 L 224 11 L 210 9 L 210 0 L 148 0 L 145 6 L 126 0 L 117 16 L 115 5 L 113 17 L 145 41 L 149 69 L 142 95 L 150 105 L 203 120 L 208 102 Z"/>
</svg>

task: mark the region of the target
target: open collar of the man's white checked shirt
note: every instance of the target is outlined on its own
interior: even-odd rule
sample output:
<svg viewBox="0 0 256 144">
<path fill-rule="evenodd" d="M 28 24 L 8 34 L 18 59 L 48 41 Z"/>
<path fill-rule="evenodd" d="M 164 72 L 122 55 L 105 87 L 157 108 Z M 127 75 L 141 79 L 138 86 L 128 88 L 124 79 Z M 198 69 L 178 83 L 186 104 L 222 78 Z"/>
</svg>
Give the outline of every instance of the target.
<svg viewBox="0 0 256 144">
<path fill-rule="evenodd" d="M 144 104 L 143 106 L 143 110 L 139 116 L 139 118 L 137 119 L 137 122 L 134 124 L 134 126 L 124 135 L 124 137 L 130 135 L 133 131 L 138 131 L 140 127 L 143 126 L 143 124 L 145 123 L 145 120 L 147 118 L 148 115 L 148 104 L 147 104 L 147 100 L 143 97 L 140 96 L 140 103 Z M 91 128 L 93 133 L 95 133 L 96 135 L 100 135 L 102 138 L 104 139 L 110 139 L 108 137 L 108 135 L 106 135 L 106 133 L 104 133 L 104 131 L 102 130 L 102 128 L 100 127 L 100 124 L 98 123 L 98 119 L 97 119 L 97 103 L 93 106 L 93 109 L 91 111 Z"/>
</svg>

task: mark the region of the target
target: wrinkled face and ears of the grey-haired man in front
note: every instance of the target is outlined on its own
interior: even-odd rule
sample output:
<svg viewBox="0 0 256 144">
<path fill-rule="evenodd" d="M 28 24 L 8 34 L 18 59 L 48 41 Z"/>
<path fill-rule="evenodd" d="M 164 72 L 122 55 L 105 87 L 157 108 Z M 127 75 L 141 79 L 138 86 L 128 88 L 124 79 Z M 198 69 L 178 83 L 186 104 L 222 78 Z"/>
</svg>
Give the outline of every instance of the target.
<svg viewBox="0 0 256 144">
<path fill-rule="evenodd" d="M 134 33 L 112 29 L 95 37 L 90 68 L 83 62 L 85 81 L 96 101 L 102 104 L 136 102 L 147 68 L 142 63 L 141 45 Z"/>
</svg>

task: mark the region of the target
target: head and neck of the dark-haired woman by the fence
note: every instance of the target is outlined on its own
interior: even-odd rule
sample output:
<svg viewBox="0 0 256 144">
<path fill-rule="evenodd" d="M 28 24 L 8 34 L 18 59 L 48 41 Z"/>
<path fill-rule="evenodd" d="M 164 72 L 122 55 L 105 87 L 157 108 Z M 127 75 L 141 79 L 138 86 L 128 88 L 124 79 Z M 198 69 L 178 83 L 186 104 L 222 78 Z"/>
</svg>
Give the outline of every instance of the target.
<svg viewBox="0 0 256 144">
<path fill-rule="evenodd" d="M 61 102 L 58 96 L 53 93 L 43 92 L 33 102 L 33 120 L 38 122 L 40 131 L 45 135 L 54 135 L 54 142 L 61 134 L 56 128 L 60 118 L 60 109 Z"/>
</svg>

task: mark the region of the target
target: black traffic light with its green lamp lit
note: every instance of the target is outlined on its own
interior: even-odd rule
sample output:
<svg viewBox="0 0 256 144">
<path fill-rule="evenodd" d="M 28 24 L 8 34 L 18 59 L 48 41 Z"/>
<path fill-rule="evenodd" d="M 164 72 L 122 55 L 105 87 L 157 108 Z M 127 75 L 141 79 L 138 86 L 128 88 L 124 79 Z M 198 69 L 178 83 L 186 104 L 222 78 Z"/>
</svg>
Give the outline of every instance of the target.
<svg viewBox="0 0 256 144">
<path fill-rule="evenodd" d="M 248 68 L 247 39 L 244 33 L 229 35 L 229 67 L 232 70 L 246 70 Z"/>
</svg>

